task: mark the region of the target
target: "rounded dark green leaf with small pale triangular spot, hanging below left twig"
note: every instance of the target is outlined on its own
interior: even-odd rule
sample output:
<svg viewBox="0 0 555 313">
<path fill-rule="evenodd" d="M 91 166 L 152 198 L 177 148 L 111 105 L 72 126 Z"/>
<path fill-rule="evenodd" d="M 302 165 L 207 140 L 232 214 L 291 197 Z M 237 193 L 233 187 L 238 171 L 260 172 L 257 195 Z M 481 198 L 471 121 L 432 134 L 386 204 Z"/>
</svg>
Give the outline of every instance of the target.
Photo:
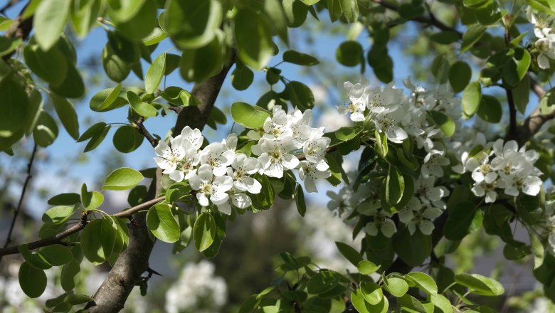
<svg viewBox="0 0 555 313">
<path fill-rule="evenodd" d="M 81 233 L 81 250 L 85 258 L 95 265 L 104 262 L 114 250 L 116 235 L 114 223 L 108 217 L 88 223 Z"/>
</svg>

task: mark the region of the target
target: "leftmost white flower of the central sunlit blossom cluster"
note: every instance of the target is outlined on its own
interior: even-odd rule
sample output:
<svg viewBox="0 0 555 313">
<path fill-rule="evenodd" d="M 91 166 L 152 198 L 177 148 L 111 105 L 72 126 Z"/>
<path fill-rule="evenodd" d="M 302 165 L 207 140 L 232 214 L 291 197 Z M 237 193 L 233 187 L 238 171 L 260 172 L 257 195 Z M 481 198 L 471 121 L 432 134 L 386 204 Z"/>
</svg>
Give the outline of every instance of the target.
<svg viewBox="0 0 555 313">
<path fill-rule="evenodd" d="M 170 136 L 169 142 L 171 147 L 164 140 L 159 140 L 158 145 L 154 148 L 154 152 L 158 155 L 154 158 L 154 161 L 160 169 L 164 170 L 162 173 L 169 174 L 174 181 L 182 181 L 184 175 L 182 171 L 177 169 L 177 166 L 185 157 L 183 137 L 173 138 Z"/>
</svg>

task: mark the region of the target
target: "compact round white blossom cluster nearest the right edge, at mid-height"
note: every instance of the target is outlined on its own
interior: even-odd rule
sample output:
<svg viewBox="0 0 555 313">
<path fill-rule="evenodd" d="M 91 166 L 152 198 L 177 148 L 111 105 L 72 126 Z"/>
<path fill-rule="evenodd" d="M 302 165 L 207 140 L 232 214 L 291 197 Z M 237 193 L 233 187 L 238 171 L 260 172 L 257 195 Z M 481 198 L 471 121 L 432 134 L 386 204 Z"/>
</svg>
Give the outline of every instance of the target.
<svg viewBox="0 0 555 313">
<path fill-rule="evenodd" d="M 499 189 L 509 196 L 518 196 L 521 191 L 529 196 L 539 193 L 542 182 L 541 171 L 534 166 L 539 157 L 536 151 L 527 151 L 524 146 L 519 149 L 514 140 L 503 139 L 485 147 L 491 147 L 491 151 L 480 152 L 464 164 L 475 181 L 472 193 L 485 196 L 486 203 L 495 202 Z"/>
</svg>

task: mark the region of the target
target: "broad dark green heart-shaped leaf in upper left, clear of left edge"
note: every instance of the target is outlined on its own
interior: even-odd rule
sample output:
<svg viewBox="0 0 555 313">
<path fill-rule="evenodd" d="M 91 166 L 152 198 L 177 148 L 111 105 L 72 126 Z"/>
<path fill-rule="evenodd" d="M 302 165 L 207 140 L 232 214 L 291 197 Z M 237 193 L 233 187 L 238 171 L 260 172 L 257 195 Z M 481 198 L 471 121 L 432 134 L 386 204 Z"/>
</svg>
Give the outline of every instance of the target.
<svg viewBox="0 0 555 313">
<path fill-rule="evenodd" d="M 28 45 L 23 49 L 23 58 L 33 73 L 52 85 L 60 85 L 68 71 L 68 61 L 56 46 L 43 51 L 38 45 Z"/>
</svg>

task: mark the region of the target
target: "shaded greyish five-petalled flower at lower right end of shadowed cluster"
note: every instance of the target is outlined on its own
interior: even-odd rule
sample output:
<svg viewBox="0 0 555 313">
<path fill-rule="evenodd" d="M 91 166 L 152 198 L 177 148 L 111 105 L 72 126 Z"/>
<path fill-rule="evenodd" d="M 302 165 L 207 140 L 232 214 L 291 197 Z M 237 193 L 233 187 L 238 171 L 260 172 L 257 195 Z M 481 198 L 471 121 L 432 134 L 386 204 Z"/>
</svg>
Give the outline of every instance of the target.
<svg viewBox="0 0 555 313">
<path fill-rule="evenodd" d="M 411 198 L 407 205 L 398 211 L 399 221 L 408 227 L 411 235 L 416 231 L 416 228 L 424 235 L 431 235 L 433 220 L 438 218 L 443 211 L 433 206 L 423 205 L 418 199 Z"/>
</svg>

